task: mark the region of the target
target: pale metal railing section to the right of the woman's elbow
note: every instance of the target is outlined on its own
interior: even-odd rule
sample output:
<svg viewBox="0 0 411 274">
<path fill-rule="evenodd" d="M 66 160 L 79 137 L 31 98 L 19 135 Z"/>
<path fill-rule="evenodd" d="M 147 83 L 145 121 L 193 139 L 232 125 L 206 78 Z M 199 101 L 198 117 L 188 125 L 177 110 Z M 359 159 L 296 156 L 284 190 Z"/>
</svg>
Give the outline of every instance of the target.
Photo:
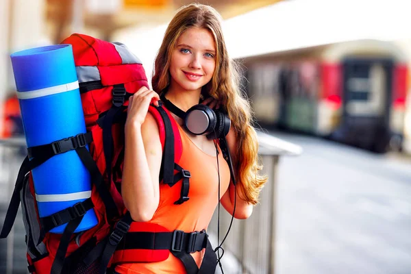
<svg viewBox="0 0 411 274">
<path fill-rule="evenodd" d="M 225 274 L 262 274 L 275 272 L 275 213 L 277 164 L 284 155 L 299 155 L 301 147 L 290 142 L 275 138 L 269 134 L 258 132 L 262 158 L 262 173 L 269 179 L 260 192 L 260 203 L 253 208 L 253 214 L 246 220 L 234 219 L 232 228 L 223 243 L 225 254 L 221 260 Z M 217 210 L 208 226 L 212 234 L 210 240 L 213 247 L 217 246 L 217 227 L 220 227 L 219 243 L 223 240 L 232 216 L 222 207 L 220 210 L 220 225 L 218 225 Z M 216 273 L 221 273 L 217 266 Z"/>
</svg>

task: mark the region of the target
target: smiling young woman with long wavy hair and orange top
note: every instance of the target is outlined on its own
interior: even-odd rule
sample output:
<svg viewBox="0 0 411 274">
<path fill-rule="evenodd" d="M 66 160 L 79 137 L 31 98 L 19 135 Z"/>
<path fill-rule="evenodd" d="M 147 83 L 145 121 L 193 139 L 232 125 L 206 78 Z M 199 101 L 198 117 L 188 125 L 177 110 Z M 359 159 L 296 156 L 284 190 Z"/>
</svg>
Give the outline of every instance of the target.
<svg viewBox="0 0 411 274">
<path fill-rule="evenodd" d="M 134 221 L 161 225 L 171 232 L 176 229 L 201 232 L 210 223 L 219 203 L 219 193 L 221 204 L 230 214 L 236 193 L 235 218 L 250 216 L 266 177 L 258 175 L 261 169 L 258 140 L 251 126 L 249 103 L 242 96 L 238 82 L 236 67 L 225 47 L 219 13 L 200 4 L 181 8 L 166 29 L 155 59 L 153 90 L 141 88 L 129 99 L 122 195 Z M 182 119 L 173 114 L 182 138 L 179 164 L 191 173 L 190 199 L 175 205 L 181 182 L 180 187 L 159 182 L 160 133 L 153 115 L 147 113 L 151 103 L 158 105 L 161 93 L 183 111 L 201 101 L 210 108 L 227 112 L 232 122 L 227 143 L 236 186 L 230 183 L 229 166 L 223 153 L 216 153 L 215 140 L 190 134 Z M 174 255 L 161 262 L 122 263 L 116 266 L 116 272 L 186 273 L 182 260 Z M 205 249 L 190 256 L 198 267 L 207 257 Z"/>
</svg>

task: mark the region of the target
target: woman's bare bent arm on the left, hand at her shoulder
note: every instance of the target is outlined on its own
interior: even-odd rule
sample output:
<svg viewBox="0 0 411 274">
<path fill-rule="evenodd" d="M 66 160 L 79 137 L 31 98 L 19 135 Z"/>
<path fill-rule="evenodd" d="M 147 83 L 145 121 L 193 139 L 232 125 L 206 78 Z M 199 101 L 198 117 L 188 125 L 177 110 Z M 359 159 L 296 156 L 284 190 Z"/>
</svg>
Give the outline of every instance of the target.
<svg viewBox="0 0 411 274">
<path fill-rule="evenodd" d="M 138 91 L 140 92 L 140 90 Z M 149 221 L 159 203 L 162 146 L 158 125 L 150 113 L 149 103 L 157 100 L 145 88 L 129 101 L 125 125 L 125 154 L 121 195 L 134 221 Z M 152 91 L 151 91 L 152 92 Z"/>
</svg>

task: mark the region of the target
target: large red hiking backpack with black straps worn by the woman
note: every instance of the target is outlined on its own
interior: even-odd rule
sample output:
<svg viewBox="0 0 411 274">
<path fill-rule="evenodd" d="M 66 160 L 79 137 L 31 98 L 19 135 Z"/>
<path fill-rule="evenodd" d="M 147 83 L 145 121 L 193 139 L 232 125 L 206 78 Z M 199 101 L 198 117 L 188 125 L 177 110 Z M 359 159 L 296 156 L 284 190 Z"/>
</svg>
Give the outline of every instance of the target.
<svg viewBox="0 0 411 274">
<path fill-rule="evenodd" d="M 73 34 L 62 44 L 73 46 L 87 133 L 27 149 L 0 238 L 8 236 L 21 202 L 30 273 L 105 273 L 111 264 L 158 262 L 170 253 L 182 260 L 188 273 L 214 273 L 216 255 L 206 232 L 169 232 L 160 225 L 134 222 L 124 207 L 121 177 L 128 98 L 142 86 L 148 87 L 140 60 L 121 43 L 83 34 Z M 188 201 L 190 173 L 178 165 L 182 142 L 177 124 L 162 106 L 151 105 L 149 112 L 158 123 L 163 148 L 160 182 L 181 185 L 181 197 L 175 204 L 184 203 Z M 30 171 L 53 155 L 71 150 L 90 171 L 91 197 L 40 219 Z M 227 153 L 227 147 L 221 150 Z M 74 233 L 91 209 L 98 224 Z M 64 223 L 63 234 L 49 232 Z M 203 248 L 206 263 L 198 269 L 190 253 Z"/>
</svg>

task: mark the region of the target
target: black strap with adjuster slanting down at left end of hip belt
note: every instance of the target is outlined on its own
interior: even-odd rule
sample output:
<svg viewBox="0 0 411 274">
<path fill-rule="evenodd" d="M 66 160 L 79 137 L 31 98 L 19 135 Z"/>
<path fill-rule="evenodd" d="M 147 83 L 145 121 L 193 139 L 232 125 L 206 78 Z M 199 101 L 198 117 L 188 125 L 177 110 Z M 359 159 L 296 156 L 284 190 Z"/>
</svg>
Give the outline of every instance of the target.
<svg viewBox="0 0 411 274">
<path fill-rule="evenodd" d="M 108 263 L 110 262 L 110 258 L 112 258 L 114 251 L 116 251 L 119 242 L 123 239 L 124 235 L 128 232 L 130 225 L 132 224 L 133 219 L 130 213 L 127 211 L 123 219 L 116 224 L 112 234 L 106 238 L 106 245 L 103 250 L 103 254 L 101 256 L 100 261 L 100 272 L 105 273 L 107 269 Z"/>
</svg>

